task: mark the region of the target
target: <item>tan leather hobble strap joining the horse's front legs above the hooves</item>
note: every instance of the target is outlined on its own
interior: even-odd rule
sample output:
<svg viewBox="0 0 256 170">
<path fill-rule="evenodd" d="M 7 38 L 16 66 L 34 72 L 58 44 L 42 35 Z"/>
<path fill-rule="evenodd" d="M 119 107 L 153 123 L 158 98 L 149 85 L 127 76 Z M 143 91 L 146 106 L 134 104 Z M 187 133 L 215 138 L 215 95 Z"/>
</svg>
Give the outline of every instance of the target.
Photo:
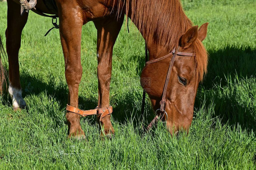
<svg viewBox="0 0 256 170">
<path fill-rule="evenodd" d="M 76 113 L 82 117 L 90 116 L 90 115 L 100 115 L 100 119 L 99 119 L 100 121 L 102 120 L 103 117 L 110 115 L 113 112 L 112 106 L 105 107 L 105 108 L 96 107 L 93 110 L 80 110 L 76 107 L 69 106 L 68 104 L 67 104 L 66 110 L 68 112 Z"/>
</svg>

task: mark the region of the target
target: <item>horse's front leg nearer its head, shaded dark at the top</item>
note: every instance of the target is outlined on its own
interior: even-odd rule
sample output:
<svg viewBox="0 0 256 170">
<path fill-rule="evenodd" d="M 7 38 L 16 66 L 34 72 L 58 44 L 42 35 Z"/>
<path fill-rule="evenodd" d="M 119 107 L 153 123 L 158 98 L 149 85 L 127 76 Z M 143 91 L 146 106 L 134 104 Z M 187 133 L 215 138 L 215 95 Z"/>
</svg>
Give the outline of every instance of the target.
<svg viewBox="0 0 256 170">
<path fill-rule="evenodd" d="M 95 27 L 98 30 L 97 34 L 97 57 L 98 57 L 98 87 L 99 101 L 98 107 L 109 107 L 109 90 L 112 71 L 112 54 L 115 40 L 119 34 L 124 21 L 124 15 L 119 20 L 116 18 L 108 18 L 95 21 Z M 98 120 L 99 120 L 98 116 Z M 110 122 L 110 115 L 102 118 L 100 122 L 104 128 L 104 134 L 114 133 L 113 126 Z M 103 131 L 102 131 L 103 134 Z M 111 135 L 110 135 L 111 137 Z"/>
</svg>

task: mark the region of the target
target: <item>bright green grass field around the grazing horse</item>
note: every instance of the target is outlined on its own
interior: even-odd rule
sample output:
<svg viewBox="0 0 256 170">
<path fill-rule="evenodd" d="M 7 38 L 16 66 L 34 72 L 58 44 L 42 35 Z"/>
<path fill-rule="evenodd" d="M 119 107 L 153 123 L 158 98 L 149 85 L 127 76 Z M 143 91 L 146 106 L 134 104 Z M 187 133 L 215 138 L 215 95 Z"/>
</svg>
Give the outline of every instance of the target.
<svg viewBox="0 0 256 170">
<path fill-rule="evenodd" d="M 110 104 L 115 137 L 102 140 L 95 118 L 86 117 L 81 125 L 88 141 L 68 140 L 59 31 L 44 37 L 51 19 L 31 12 L 19 55 L 28 111 L 14 112 L 8 94 L 0 97 L 0 169 L 256 169 L 256 1 L 182 4 L 195 25 L 210 23 L 204 41 L 210 55 L 208 73 L 199 85 L 188 136 L 171 138 L 164 124 L 141 133 L 138 82 L 144 41 L 130 22 L 130 33 L 123 26 L 113 52 Z M 0 2 L 3 42 L 6 13 L 6 2 Z M 8 68 L 7 59 L 4 65 Z M 83 26 L 82 66 L 79 107 L 93 109 L 98 96 L 93 23 Z M 124 78 L 133 84 L 127 86 Z M 144 123 L 154 115 L 149 101 L 146 112 Z"/>
</svg>

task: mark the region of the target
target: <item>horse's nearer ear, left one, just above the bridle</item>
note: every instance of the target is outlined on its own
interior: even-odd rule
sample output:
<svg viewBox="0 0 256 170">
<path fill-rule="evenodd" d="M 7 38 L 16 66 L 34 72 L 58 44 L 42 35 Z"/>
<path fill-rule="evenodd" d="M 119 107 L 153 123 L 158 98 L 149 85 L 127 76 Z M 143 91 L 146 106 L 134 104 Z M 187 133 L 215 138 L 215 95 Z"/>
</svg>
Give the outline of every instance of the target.
<svg viewBox="0 0 256 170">
<path fill-rule="evenodd" d="M 180 38 L 180 46 L 185 48 L 188 48 L 193 42 L 196 41 L 198 35 L 198 26 L 193 26 L 188 29 L 185 34 L 183 34 Z"/>
</svg>

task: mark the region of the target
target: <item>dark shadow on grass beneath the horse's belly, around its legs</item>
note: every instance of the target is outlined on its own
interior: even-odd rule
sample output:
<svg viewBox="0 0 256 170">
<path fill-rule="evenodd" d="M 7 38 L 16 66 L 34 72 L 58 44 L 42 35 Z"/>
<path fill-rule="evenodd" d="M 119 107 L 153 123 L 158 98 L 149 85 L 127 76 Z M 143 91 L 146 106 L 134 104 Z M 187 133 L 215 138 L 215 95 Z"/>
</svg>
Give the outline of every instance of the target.
<svg viewBox="0 0 256 170">
<path fill-rule="evenodd" d="M 8 72 L 8 69 L 5 68 Z M 39 96 L 42 93 L 46 93 L 47 96 L 51 96 L 55 101 L 59 103 L 58 108 L 60 111 L 65 109 L 67 101 L 68 101 L 68 88 L 65 82 L 56 82 L 58 81 L 56 77 L 49 77 L 48 81 L 43 81 L 40 77 L 36 77 L 34 75 L 30 75 L 25 72 L 21 74 L 21 87 L 22 87 L 22 96 L 25 98 L 26 96 Z M 3 105 L 7 105 L 8 107 L 12 107 L 10 97 L 8 98 L 8 93 L 3 96 L 4 100 L 2 102 Z M 26 101 L 26 99 L 25 99 Z M 96 102 L 92 99 L 84 99 L 79 96 L 79 104 L 82 104 L 83 108 L 89 108 L 92 105 L 95 105 Z M 29 107 L 29 106 L 28 106 Z M 33 106 L 37 107 L 37 106 Z M 51 107 L 51 106 L 50 106 Z M 33 108 L 32 108 L 33 109 Z M 54 112 L 53 110 L 56 108 L 47 108 L 49 112 L 48 117 L 52 117 L 53 121 L 56 123 L 56 126 L 62 125 L 63 122 L 60 122 L 60 115 L 58 112 Z M 91 108 L 90 108 L 91 109 Z M 37 110 L 39 113 L 44 113 L 45 108 L 38 104 Z M 52 110 L 52 111 L 50 111 Z M 86 118 L 87 119 L 87 118 Z M 66 122 L 65 122 L 66 123 Z"/>
</svg>

